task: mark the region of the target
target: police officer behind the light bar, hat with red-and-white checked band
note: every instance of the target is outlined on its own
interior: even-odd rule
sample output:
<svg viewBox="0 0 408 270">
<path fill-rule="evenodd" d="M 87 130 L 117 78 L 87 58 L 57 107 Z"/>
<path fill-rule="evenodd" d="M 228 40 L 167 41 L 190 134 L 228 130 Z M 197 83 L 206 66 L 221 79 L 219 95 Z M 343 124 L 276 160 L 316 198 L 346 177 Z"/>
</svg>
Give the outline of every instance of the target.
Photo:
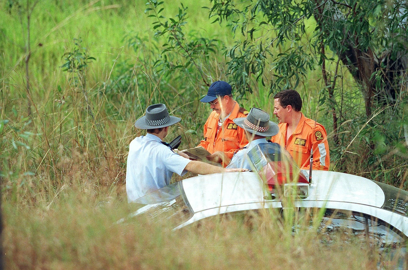
<svg viewBox="0 0 408 270">
<path fill-rule="evenodd" d="M 277 124 L 269 121 L 269 114 L 259 108 L 252 108 L 246 117 L 235 118 L 234 123 L 245 130 L 245 136 L 249 143 L 238 149 L 227 169 L 244 168 L 252 169 L 248 152 L 259 143 L 267 143 L 266 137 L 275 136 L 279 132 Z"/>
</svg>

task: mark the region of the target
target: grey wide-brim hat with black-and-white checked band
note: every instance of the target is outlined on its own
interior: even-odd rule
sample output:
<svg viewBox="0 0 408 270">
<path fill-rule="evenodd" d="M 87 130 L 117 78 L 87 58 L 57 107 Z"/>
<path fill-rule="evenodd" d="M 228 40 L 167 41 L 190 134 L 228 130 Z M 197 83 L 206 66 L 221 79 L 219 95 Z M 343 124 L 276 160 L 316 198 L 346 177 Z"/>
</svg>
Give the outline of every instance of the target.
<svg viewBox="0 0 408 270">
<path fill-rule="evenodd" d="M 160 127 L 169 127 L 180 121 L 180 118 L 169 115 L 166 105 L 159 103 L 147 107 L 146 115 L 136 120 L 135 127 L 142 130 L 151 130 Z"/>
</svg>

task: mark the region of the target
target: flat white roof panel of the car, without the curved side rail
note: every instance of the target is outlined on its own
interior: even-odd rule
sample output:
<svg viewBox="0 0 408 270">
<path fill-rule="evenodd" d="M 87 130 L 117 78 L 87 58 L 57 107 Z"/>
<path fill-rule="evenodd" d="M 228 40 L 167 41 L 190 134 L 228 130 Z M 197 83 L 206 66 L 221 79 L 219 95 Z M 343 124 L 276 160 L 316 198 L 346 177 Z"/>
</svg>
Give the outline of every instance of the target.
<svg viewBox="0 0 408 270">
<path fill-rule="evenodd" d="M 309 196 L 304 200 L 353 202 L 381 207 L 385 195 L 375 182 L 347 173 L 313 171 Z M 215 173 L 183 180 L 194 212 L 219 206 L 264 201 L 264 185 L 254 172 Z"/>
</svg>

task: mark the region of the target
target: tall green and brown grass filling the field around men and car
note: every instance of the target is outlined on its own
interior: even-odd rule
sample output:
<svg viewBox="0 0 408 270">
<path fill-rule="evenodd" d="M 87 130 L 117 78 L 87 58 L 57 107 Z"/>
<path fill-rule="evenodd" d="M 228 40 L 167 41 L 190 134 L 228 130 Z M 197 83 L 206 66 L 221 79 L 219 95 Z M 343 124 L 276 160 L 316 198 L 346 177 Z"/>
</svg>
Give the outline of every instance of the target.
<svg viewBox="0 0 408 270">
<path fill-rule="evenodd" d="M 372 269 L 380 260 L 358 245 L 339 244 L 328 250 L 313 230 L 292 235 L 270 213 L 253 215 L 252 225 L 246 217 L 215 217 L 178 231 L 149 220 L 116 224 L 135 210 L 126 202 L 124 187 L 129 142 L 143 134 L 133 127 L 134 121 L 148 105 L 166 103 L 171 114 L 182 118 L 168 138 L 183 134 L 180 148 L 193 147 L 202 138 L 210 112 L 199 101 L 208 87 L 196 70 L 166 73 L 163 66 L 154 66 L 163 60 L 166 41 L 155 37 L 154 19 L 144 13 L 145 1 L 46 0 L 31 14 L 27 89 L 27 13 L 24 4 L 20 13 L 16 6 L 9 10 L 10 2 L 0 0 L 0 179 L 8 269 Z M 164 15 L 174 17 L 179 3 L 166 1 Z M 187 4 L 187 38 L 218 40 L 219 50 L 208 61 L 198 58 L 200 65 L 211 81 L 228 81 L 222 48 L 239 34 L 234 37 L 226 24 L 211 24 L 201 8 L 209 5 L 207 1 Z M 95 58 L 79 73 L 62 68 L 66 53 L 75 50 L 74 39 L 82 40 L 82 55 Z M 179 58 L 169 56 L 174 62 Z M 73 83 L 79 74 L 85 86 Z M 302 82 L 304 113 L 330 130 L 330 114 L 318 102 L 320 84 L 317 71 Z M 343 86 L 354 102 L 345 102 L 345 116 L 355 119 L 359 110 L 350 108 L 358 107 L 353 98 L 358 91 L 350 80 L 344 79 Z M 268 89 L 260 83 L 254 89 L 237 98 L 239 103 L 272 115 Z M 346 123 L 345 141 L 353 139 L 361 122 Z M 357 154 L 342 156 L 350 173 L 366 173 L 360 162 L 367 157 L 359 155 L 365 152 L 360 149 L 364 140 L 359 137 L 348 149 Z M 395 184 L 391 180 L 399 170 L 397 186 L 406 189 L 406 163 L 398 168 L 389 164 L 392 170 L 385 175 L 390 183 Z M 343 259 L 350 257 L 354 259 Z"/>
</svg>

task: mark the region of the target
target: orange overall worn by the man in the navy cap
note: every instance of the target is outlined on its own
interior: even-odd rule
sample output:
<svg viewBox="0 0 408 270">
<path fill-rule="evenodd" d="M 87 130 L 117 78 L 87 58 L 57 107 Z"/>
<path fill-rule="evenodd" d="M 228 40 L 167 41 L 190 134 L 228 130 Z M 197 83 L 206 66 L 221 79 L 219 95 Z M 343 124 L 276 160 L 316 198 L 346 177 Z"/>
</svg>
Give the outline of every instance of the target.
<svg viewBox="0 0 408 270">
<path fill-rule="evenodd" d="M 223 151 L 225 156 L 231 159 L 236 149 L 248 144 L 244 130 L 238 127 L 237 124 L 233 122 L 233 119 L 246 117 L 247 114 L 248 111 L 244 108 L 240 108 L 238 103 L 235 102 L 231 114 L 225 119 L 221 129 L 217 132 L 220 114 L 211 112 L 204 124 L 204 140 L 201 140 L 199 145 L 207 149 L 211 154 L 215 151 Z M 226 167 L 226 165 L 228 165 L 228 163 L 223 164 L 224 167 Z"/>
</svg>

